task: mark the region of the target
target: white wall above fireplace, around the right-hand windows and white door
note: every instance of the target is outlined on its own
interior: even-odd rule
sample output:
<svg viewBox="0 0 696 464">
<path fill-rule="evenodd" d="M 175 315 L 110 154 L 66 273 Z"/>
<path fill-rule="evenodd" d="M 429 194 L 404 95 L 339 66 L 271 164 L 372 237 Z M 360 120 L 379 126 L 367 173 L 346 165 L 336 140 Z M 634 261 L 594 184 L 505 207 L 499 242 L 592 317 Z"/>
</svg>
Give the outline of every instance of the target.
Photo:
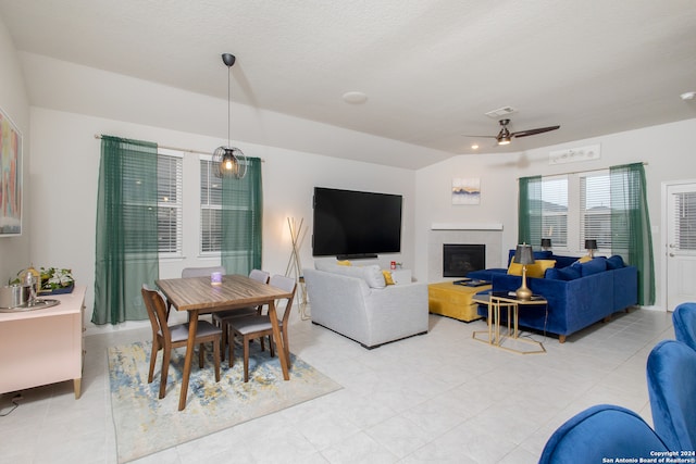
<svg viewBox="0 0 696 464">
<path fill-rule="evenodd" d="M 648 208 L 652 226 L 652 247 L 657 303 L 663 298 L 660 286 L 662 272 L 662 236 L 660 231 L 661 184 L 668 180 L 696 178 L 696 152 L 693 135 L 696 118 L 672 124 L 647 127 L 605 137 L 577 140 L 522 153 L 462 155 L 420 170 L 417 174 L 417 268 L 426 269 L 427 237 L 432 223 L 502 223 L 502 255 L 499 266 L 513 248 L 518 236 L 518 183 L 519 177 L 554 175 L 606 168 L 612 165 L 645 162 Z M 549 165 L 549 151 L 572 149 L 599 143 L 599 160 Z M 457 177 L 481 178 L 480 205 L 452 205 L 451 179 Z M 431 276 L 425 276 L 426 279 Z"/>
</svg>

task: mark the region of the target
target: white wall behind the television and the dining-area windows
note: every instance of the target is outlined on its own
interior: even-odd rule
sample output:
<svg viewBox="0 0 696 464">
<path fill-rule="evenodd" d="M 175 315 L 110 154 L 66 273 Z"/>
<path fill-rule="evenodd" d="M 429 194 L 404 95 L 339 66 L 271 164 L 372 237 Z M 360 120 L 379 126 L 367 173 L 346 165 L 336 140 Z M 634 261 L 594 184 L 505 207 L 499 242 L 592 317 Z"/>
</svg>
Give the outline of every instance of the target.
<svg viewBox="0 0 696 464">
<path fill-rule="evenodd" d="M 156 141 L 164 146 L 212 151 L 220 139 L 41 108 L 32 109 L 33 196 L 32 259 L 37 265 L 70 267 L 78 284 L 87 285 L 87 314 L 94 305 L 95 222 L 100 140 L 95 134 Z M 413 263 L 415 214 L 414 172 L 363 162 L 303 153 L 274 147 L 235 142 L 263 163 L 263 268 L 284 274 L 290 256 L 287 217 L 303 218 L 308 235 L 301 247 L 303 266 L 312 266 L 311 227 L 314 186 L 369 190 L 403 196 L 402 252 L 380 256 Z M 197 156 L 191 154 L 191 156 Z M 194 202 L 194 208 L 195 202 Z M 161 265 L 161 277 L 177 277 L 198 262 L 196 253 L 184 261 Z M 132 323 L 125 325 L 133 326 Z M 90 331 L 111 329 L 95 328 Z"/>
</svg>

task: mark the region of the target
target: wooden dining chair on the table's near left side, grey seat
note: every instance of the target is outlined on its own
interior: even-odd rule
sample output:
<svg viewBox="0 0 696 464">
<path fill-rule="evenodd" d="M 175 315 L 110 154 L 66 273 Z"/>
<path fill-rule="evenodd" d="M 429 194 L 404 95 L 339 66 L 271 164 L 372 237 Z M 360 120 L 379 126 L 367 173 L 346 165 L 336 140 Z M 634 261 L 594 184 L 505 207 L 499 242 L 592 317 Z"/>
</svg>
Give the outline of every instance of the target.
<svg viewBox="0 0 696 464">
<path fill-rule="evenodd" d="M 160 399 L 166 393 L 166 377 L 170 367 L 172 350 L 186 347 L 188 343 L 188 323 L 170 326 L 166 323 L 166 299 L 158 290 L 151 290 L 142 285 L 140 290 L 145 306 L 148 310 L 150 325 L 152 327 L 152 353 L 150 354 L 150 371 L 148 384 L 152 383 L 157 353 L 162 350 L 162 376 L 160 380 Z M 207 321 L 199 321 L 196 330 L 196 343 L 198 343 L 198 366 L 203 367 L 203 343 L 212 342 L 215 362 L 215 381 L 220 381 L 220 342 L 222 330 Z"/>
</svg>

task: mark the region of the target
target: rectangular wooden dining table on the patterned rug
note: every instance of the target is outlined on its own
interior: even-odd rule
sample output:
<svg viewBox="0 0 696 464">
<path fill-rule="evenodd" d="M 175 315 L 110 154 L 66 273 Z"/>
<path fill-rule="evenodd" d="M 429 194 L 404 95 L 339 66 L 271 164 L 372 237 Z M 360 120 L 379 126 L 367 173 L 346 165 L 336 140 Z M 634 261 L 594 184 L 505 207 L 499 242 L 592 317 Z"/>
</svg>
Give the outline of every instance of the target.
<svg viewBox="0 0 696 464">
<path fill-rule="evenodd" d="M 287 355 L 289 350 L 288 347 L 283 344 L 275 300 L 290 298 L 291 293 L 236 274 L 223 276 L 220 285 L 212 285 L 210 277 L 159 279 L 154 284 L 177 311 L 187 311 L 189 315 L 188 343 L 186 346 L 186 359 L 182 376 L 182 393 L 178 401 L 179 411 L 186 407 L 198 316 L 201 313 L 268 304 L 269 317 L 273 326 L 273 340 L 278 347 L 276 351 L 283 368 L 283 378 L 285 380 L 290 379 L 288 373 L 289 356 Z"/>
</svg>

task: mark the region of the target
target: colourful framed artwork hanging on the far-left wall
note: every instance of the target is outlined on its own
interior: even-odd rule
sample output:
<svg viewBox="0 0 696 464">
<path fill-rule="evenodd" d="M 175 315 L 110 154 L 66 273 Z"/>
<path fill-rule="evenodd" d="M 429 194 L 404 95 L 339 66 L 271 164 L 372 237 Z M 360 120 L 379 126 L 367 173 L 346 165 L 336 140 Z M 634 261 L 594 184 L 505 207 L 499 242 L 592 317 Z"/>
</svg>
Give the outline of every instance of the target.
<svg viewBox="0 0 696 464">
<path fill-rule="evenodd" d="M 22 134 L 0 109 L 0 237 L 22 234 Z"/>
</svg>

